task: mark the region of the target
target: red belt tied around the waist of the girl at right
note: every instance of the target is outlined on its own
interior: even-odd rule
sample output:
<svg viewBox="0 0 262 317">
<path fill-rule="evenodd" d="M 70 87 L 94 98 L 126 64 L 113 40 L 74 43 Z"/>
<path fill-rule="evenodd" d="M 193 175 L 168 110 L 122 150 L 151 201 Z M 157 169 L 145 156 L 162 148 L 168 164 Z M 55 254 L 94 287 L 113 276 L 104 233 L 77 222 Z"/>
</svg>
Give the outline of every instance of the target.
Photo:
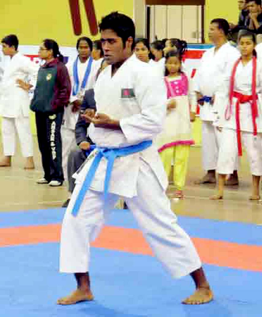
<svg viewBox="0 0 262 317">
<path fill-rule="evenodd" d="M 242 145 L 241 145 L 241 135 L 240 135 L 240 117 L 239 117 L 239 105 L 240 103 L 249 102 L 251 106 L 252 113 L 252 123 L 253 123 L 253 135 L 257 135 L 257 123 L 256 118 L 258 117 L 258 107 L 257 103 L 253 102 L 252 95 L 242 95 L 236 91 L 233 92 L 233 97 L 237 98 L 236 102 L 236 129 L 237 129 L 237 146 L 238 146 L 238 155 L 242 156 Z M 258 96 L 256 95 L 256 99 Z"/>
</svg>

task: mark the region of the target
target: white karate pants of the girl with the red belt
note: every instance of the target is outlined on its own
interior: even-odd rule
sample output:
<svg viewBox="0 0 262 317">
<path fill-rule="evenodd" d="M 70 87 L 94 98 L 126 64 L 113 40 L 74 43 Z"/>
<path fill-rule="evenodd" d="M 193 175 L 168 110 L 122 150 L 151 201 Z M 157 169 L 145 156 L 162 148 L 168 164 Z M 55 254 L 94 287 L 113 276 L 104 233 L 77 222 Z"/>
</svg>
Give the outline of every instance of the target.
<svg viewBox="0 0 262 317">
<path fill-rule="evenodd" d="M 252 132 L 241 132 L 242 147 L 246 148 L 247 159 L 252 175 L 262 175 L 262 133 L 256 136 Z M 235 168 L 238 155 L 236 130 L 224 128 L 222 130 L 221 146 L 219 149 L 217 172 L 231 174 Z"/>
</svg>

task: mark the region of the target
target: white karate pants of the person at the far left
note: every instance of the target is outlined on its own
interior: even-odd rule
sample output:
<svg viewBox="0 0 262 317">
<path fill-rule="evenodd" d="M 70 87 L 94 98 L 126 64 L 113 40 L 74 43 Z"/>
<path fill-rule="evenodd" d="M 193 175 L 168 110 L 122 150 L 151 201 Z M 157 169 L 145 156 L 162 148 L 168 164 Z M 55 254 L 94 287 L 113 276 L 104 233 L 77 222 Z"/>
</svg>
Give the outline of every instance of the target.
<svg viewBox="0 0 262 317">
<path fill-rule="evenodd" d="M 33 137 L 29 117 L 2 117 L 2 139 L 4 156 L 13 156 L 16 149 L 16 132 L 20 141 L 23 157 L 33 156 Z"/>
</svg>

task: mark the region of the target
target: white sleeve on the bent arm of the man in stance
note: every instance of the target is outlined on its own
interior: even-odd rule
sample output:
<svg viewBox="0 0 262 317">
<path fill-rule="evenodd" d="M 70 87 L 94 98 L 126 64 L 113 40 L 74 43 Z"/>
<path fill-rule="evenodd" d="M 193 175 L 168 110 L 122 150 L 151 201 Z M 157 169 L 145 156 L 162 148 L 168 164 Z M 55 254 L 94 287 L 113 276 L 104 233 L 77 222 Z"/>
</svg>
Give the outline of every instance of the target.
<svg viewBox="0 0 262 317">
<path fill-rule="evenodd" d="M 152 140 L 162 131 L 166 117 L 165 83 L 155 72 L 149 71 L 139 72 L 135 79 L 134 92 L 141 112 L 120 120 L 125 138 L 133 144 Z"/>
</svg>

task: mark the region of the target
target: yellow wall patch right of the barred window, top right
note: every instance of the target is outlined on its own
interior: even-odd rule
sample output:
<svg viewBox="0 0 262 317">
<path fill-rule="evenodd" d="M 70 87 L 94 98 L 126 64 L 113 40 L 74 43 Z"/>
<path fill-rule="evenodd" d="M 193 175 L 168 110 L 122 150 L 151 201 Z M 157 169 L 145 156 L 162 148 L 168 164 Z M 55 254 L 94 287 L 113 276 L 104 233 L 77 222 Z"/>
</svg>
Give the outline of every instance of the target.
<svg viewBox="0 0 262 317">
<path fill-rule="evenodd" d="M 238 21 L 237 0 L 206 0 L 205 5 L 205 39 L 208 42 L 208 26 L 212 19 L 224 18 L 229 23 Z"/>
</svg>

